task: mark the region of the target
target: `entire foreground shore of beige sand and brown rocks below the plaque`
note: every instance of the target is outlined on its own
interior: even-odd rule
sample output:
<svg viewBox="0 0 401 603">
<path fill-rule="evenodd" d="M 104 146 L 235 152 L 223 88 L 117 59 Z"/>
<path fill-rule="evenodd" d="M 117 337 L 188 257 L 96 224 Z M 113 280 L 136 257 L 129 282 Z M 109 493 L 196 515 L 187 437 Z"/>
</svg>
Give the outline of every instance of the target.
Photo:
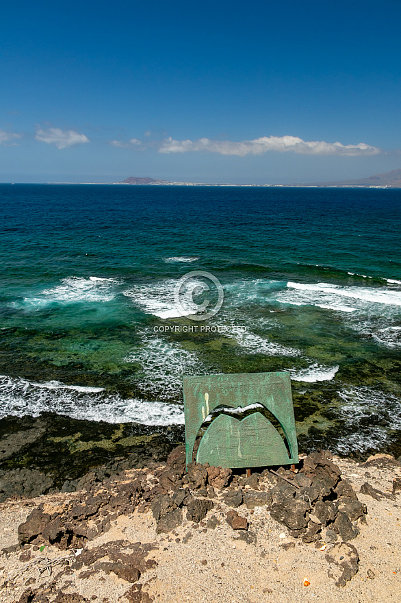
<svg viewBox="0 0 401 603">
<path fill-rule="evenodd" d="M 320 451 L 295 472 L 246 477 L 198 463 L 186 472 L 179 445 L 164 463 L 92 471 L 79 491 L 3 502 L 2 600 L 331 602 L 337 587 L 347 601 L 391 599 L 400 493 L 401 464 L 388 455 L 359 464 Z"/>
</svg>

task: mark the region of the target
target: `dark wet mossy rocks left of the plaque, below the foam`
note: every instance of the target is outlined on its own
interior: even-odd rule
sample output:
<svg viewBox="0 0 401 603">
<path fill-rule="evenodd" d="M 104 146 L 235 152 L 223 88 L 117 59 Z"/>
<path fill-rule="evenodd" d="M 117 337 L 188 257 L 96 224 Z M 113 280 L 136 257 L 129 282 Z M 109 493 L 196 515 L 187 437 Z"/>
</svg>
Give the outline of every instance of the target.
<svg viewBox="0 0 401 603">
<path fill-rule="evenodd" d="M 81 489 L 126 469 L 165 461 L 183 426 L 82 421 L 64 415 L 0 420 L 0 502 Z"/>
</svg>

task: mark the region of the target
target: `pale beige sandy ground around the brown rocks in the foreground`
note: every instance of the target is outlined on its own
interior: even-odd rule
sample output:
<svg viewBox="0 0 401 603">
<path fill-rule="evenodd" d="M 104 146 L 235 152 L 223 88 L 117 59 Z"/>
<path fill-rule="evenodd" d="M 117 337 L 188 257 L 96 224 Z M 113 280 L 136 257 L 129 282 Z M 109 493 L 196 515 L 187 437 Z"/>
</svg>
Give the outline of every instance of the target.
<svg viewBox="0 0 401 603">
<path fill-rule="evenodd" d="M 359 571 L 339 588 L 329 574 L 333 571 L 326 561 L 330 544 L 324 551 L 315 543 L 305 544 L 290 537 L 281 524 L 271 519 L 266 508 L 254 512 L 244 506 L 237 510 L 248 517 L 249 533 L 256 536 L 247 543 L 241 537 L 245 532 L 233 530 L 225 521 L 227 507 L 218 502 L 209 511 L 207 519 L 216 516 L 220 524 L 215 529 L 184 520 L 170 534 L 156 534 L 156 522 L 151 513 L 120 515 L 112 521 L 112 529 L 90 541 L 87 548 L 101 543 L 125 540 L 129 543 L 155 543 L 148 558 L 157 561 L 157 567 L 140 577 L 142 592 L 155 602 L 182 603 L 268 603 L 268 602 L 346 602 L 365 603 L 401 600 L 401 494 L 393 498 L 374 500 L 359 493 L 364 482 L 390 494 L 393 478 L 401 477 L 401 467 L 378 469 L 360 467 L 352 460 L 333 458 L 367 505 L 367 525 L 361 524 L 360 534 L 350 541 L 359 553 Z M 74 493 L 41 496 L 34 500 L 8 501 L 0 506 L 0 550 L 16 545 L 18 525 L 25 521 L 32 508 L 47 501 L 50 506 Z M 202 523 L 202 522 L 201 522 Z M 188 536 L 189 534 L 189 536 Z M 324 539 L 324 535 L 323 535 Z M 36 550 L 34 550 L 36 548 Z M 78 552 L 79 553 L 79 552 Z M 29 559 L 27 556 L 31 555 Z M 25 545 L 25 550 L 0 556 L 1 603 L 18 602 L 28 587 L 45 589 L 53 583 L 54 589 L 79 593 L 88 600 L 103 603 L 140 601 L 127 593 L 132 584 L 115 574 L 99 571 L 88 576 L 88 567 L 79 571 L 68 568 L 68 558 L 76 551 L 60 551 L 57 547 Z M 64 565 L 56 563 L 44 569 L 50 559 L 65 557 Z M 335 568 L 334 568 L 335 569 Z M 369 577 L 370 576 L 370 577 Z M 304 586 L 304 579 L 310 582 Z M 50 595 L 47 594 L 49 597 Z"/>
</svg>

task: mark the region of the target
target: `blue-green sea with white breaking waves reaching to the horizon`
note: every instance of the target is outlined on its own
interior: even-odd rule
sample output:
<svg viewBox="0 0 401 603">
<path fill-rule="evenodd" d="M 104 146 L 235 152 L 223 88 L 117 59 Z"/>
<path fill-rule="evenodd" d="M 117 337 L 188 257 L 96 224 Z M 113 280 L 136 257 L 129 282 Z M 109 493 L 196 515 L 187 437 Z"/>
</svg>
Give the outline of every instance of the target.
<svg viewBox="0 0 401 603">
<path fill-rule="evenodd" d="M 0 417 L 183 423 L 183 375 L 286 370 L 301 449 L 401 454 L 401 190 L 1 184 L 0 208 Z M 210 318 L 205 277 L 177 308 L 191 271 Z"/>
</svg>

